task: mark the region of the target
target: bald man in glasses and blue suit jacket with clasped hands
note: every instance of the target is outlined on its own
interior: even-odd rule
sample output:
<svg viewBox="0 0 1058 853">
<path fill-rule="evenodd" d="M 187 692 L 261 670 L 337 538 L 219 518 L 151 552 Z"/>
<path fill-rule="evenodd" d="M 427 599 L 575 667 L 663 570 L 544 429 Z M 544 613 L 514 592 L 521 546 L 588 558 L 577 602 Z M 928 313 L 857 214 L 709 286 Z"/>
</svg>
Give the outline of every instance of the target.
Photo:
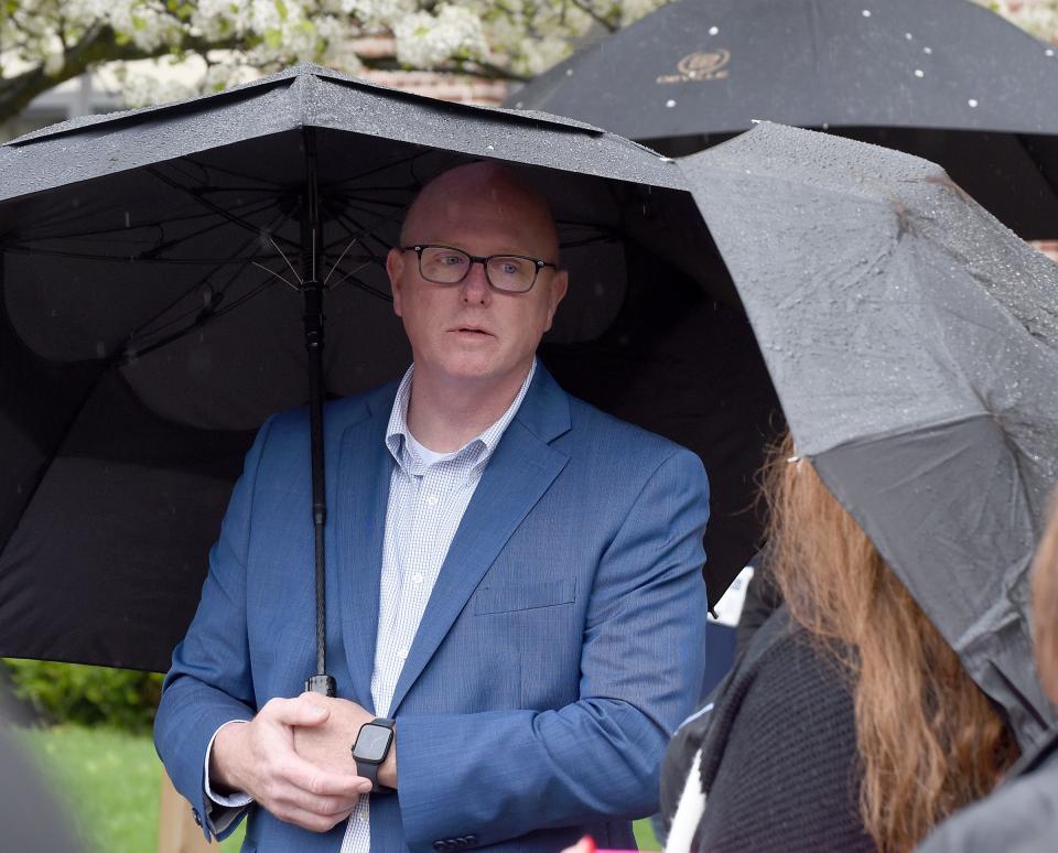
<svg viewBox="0 0 1058 853">
<path fill-rule="evenodd" d="M 260 430 L 173 655 L 159 755 L 244 850 L 634 847 L 703 671 L 697 456 L 536 358 L 569 287 L 511 171 L 431 182 L 386 259 L 413 363 L 328 404 L 328 661 L 314 666 L 307 414 Z"/>
</svg>

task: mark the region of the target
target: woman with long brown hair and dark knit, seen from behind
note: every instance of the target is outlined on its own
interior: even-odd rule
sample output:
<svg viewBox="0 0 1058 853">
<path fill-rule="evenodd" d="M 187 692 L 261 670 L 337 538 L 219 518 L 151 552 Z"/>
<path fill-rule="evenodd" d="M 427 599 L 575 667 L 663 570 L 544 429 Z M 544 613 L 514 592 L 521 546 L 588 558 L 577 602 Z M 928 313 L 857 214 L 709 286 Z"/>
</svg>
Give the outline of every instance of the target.
<svg viewBox="0 0 1058 853">
<path fill-rule="evenodd" d="M 992 789 L 1014 738 L 789 436 L 764 497 L 786 604 L 673 741 L 667 849 L 910 850 Z"/>
</svg>

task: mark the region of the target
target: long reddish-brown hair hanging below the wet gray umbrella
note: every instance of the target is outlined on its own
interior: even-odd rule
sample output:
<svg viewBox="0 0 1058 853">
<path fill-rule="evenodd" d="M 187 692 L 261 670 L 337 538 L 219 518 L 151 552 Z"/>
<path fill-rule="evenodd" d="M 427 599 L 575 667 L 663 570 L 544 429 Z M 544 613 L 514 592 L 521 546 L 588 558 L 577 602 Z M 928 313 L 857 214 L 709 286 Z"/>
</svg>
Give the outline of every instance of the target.
<svg viewBox="0 0 1058 853">
<path fill-rule="evenodd" d="M 791 616 L 848 674 L 860 812 L 882 851 L 910 850 L 980 799 L 1013 736 L 874 543 L 786 436 L 766 471 L 769 565 Z"/>
</svg>

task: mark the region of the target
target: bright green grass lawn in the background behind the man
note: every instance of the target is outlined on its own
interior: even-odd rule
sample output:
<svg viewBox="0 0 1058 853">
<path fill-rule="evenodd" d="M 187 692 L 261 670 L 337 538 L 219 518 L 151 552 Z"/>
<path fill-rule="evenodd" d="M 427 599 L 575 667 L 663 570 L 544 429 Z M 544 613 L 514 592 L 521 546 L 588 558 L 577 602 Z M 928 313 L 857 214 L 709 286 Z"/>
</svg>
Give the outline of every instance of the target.
<svg viewBox="0 0 1058 853">
<path fill-rule="evenodd" d="M 158 844 L 162 766 L 148 735 L 107 728 L 13 728 L 65 802 L 88 853 L 145 853 Z M 640 850 L 657 850 L 647 820 L 636 821 Z M 242 827 L 218 847 L 236 853 Z"/>
</svg>

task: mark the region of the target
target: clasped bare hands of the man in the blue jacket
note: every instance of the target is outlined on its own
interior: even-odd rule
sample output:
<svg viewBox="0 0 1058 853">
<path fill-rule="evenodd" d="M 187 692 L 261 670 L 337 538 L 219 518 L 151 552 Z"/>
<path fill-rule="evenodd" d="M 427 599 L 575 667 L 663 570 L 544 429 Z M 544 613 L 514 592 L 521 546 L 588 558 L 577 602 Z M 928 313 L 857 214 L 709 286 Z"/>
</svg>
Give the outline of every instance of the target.
<svg viewBox="0 0 1058 853">
<path fill-rule="evenodd" d="M 210 785 L 246 791 L 280 820 L 326 832 L 371 790 L 357 775 L 350 748 L 371 719 L 355 702 L 319 693 L 272 699 L 249 723 L 217 733 Z"/>
</svg>

